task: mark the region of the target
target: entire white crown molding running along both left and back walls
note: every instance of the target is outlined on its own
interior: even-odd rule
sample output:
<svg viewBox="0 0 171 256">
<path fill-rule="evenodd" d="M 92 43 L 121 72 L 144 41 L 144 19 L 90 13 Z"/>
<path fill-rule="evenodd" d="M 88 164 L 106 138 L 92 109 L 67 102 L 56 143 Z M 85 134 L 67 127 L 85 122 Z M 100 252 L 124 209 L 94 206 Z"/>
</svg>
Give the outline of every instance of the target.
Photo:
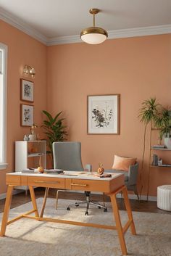
<svg viewBox="0 0 171 256">
<path fill-rule="evenodd" d="M 48 38 L 40 33 L 38 30 L 30 27 L 26 22 L 14 17 L 14 15 L 9 14 L 4 9 L 0 8 L 0 19 L 12 25 L 14 28 L 21 30 L 22 32 L 28 34 L 29 36 L 35 38 L 41 43 L 47 46 L 53 46 L 57 44 L 75 44 L 83 43 L 80 39 L 80 35 L 75 36 L 59 36 Z M 129 38 L 136 36 L 154 36 L 171 33 L 171 24 L 169 25 L 159 25 L 151 27 L 142 27 L 142 28 L 127 28 L 121 30 L 109 30 L 108 39 L 115 38 Z"/>
</svg>

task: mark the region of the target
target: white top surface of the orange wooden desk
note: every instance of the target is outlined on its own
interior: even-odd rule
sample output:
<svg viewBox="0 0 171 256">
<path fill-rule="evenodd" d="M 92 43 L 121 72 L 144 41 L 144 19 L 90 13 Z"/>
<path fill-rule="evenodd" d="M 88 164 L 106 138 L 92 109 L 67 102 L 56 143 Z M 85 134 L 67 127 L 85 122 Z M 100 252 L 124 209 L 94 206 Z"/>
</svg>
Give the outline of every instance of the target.
<svg viewBox="0 0 171 256">
<path fill-rule="evenodd" d="M 107 173 L 105 173 L 107 174 Z M 7 173 L 7 176 L 33 176 L 33 177 L 47 177 L 47 178 L 75 178 L 83 180 L 98 180 L 98 181 L 112 181 L 114 178 L 123 176 L 122 173 L 109 173 L 112 174 L 110 178 L 100 178 L 95 172 L 81 172 L 81 171 L 64 171 L 64 174 L 57 173 Z"/>
</svg>

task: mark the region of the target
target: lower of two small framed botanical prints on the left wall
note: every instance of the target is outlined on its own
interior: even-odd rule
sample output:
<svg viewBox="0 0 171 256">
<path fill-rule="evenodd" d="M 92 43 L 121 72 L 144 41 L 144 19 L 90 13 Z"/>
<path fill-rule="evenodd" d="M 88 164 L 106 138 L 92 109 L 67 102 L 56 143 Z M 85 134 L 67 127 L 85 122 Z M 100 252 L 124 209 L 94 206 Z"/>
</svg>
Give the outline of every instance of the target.
<svg viewBox="0 0 171 256">
<path fill-rule="evenodd" d="M 34 123 L 34 106 L 29 104 L 20 104 L 20 111 L 21 126 L 32 126 Z"/>
</svg>

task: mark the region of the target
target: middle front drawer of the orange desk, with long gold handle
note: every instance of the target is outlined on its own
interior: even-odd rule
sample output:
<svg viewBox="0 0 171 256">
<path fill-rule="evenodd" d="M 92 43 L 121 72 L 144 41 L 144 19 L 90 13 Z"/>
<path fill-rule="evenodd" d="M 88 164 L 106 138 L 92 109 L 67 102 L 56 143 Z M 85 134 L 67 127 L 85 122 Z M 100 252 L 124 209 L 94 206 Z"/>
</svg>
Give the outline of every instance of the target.
<svg viewBox="0 0 171 256">
<path fill-rule="evenodd" d="M 64 189 L 64 178 L 28 177 L 28 186 Z"/>
</svg>

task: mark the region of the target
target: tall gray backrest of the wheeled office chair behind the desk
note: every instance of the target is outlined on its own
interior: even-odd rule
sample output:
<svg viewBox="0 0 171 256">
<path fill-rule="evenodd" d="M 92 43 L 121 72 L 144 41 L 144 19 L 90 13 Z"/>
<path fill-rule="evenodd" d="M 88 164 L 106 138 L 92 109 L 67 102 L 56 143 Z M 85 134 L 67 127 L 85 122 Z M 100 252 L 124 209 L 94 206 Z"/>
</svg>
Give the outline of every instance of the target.
<svg viewBox="0 0 171 256">
<path fill-rule="evenodd" d="M 83 171 L 80 142 L 54 142 L 54 169 Z"/>
</svg>

